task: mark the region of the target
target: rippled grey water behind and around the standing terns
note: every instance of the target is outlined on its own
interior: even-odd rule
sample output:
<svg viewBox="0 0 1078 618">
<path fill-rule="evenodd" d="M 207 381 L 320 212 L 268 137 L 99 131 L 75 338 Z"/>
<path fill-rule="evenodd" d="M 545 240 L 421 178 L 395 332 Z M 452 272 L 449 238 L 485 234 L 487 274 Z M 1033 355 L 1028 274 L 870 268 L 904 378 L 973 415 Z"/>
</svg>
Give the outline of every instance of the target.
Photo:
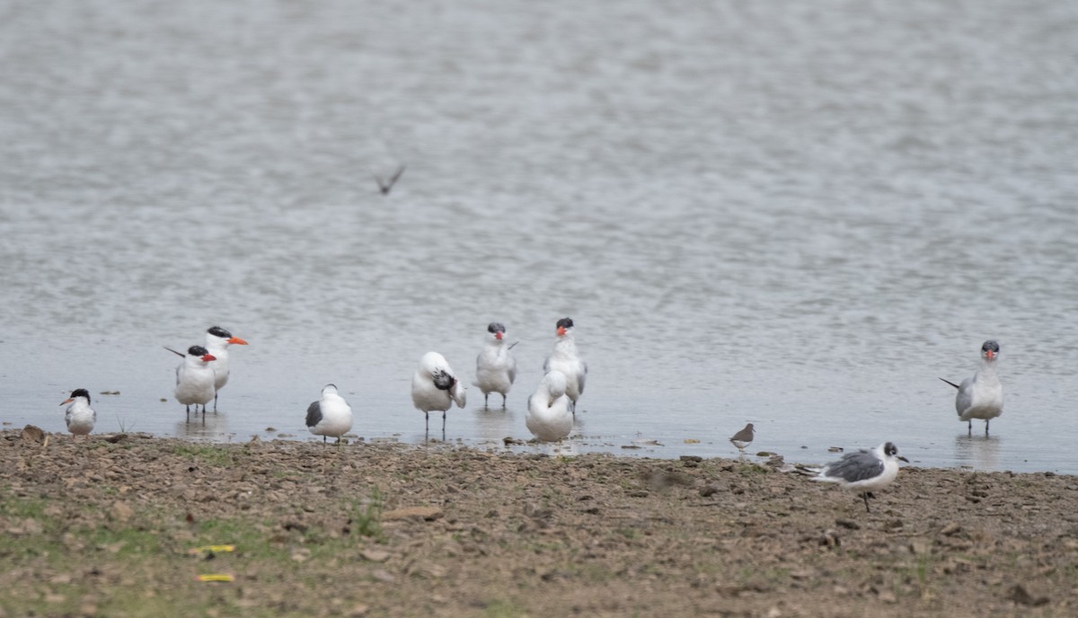
<svg viewBox="0 0 1078 618">
<path fill-rule="evenodd" d="M 496 319 L 508 411 L 471 388 L 446 439 L 500 447 L 568 315 L 578 452 L 735 455 L 752 422 L 803 462 L 892 440 L 1078 473 L 1075 26 L 1063 1 L 17 3 L 0 418 L 61 430 L 86 387 L 121 392 L 98 431 L 308 439 L 333 382 L 358 435 L 418 442 L 419 356 L 470 381 Z M 162 346 L 213 324 L 251 345 L 188 423 Z M 1006 411 L 967 436 L 937 376 L 990 338 Z"/>
</svg>

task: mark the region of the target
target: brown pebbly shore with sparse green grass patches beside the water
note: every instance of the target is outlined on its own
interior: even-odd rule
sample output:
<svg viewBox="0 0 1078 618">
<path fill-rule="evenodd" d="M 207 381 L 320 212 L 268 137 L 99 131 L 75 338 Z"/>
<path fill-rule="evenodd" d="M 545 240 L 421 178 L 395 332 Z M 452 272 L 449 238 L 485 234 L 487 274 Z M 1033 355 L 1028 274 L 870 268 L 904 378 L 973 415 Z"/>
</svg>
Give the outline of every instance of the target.
<svg viewBox="0 0 1078 618">
<path fill-rule="evenodd" d="M 1051 472 L 908 466 L 867 513 L 758 456 L 16 429 L 0 458 L 2 616 L 1078 614 Z"/>
</svg>

